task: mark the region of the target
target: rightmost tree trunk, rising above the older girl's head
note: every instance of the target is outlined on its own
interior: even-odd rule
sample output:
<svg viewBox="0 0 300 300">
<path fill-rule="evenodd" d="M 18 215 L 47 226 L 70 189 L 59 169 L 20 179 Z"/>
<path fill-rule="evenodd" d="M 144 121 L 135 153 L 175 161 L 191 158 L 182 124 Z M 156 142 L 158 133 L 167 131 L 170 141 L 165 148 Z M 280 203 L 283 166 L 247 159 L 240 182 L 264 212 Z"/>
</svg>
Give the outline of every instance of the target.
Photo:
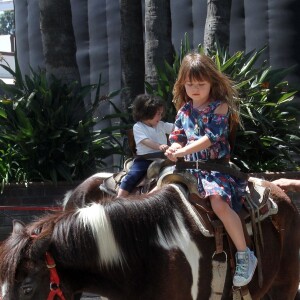
<svg viewBox="0 0 300 300">
<path fill-rule="evenodd" d="M 229 46 L 230 12 L 232 0 L 208 0 L 204 29 L 204 49 L 211 49 L 217 40 L 224 48 Z"/>
</svg>

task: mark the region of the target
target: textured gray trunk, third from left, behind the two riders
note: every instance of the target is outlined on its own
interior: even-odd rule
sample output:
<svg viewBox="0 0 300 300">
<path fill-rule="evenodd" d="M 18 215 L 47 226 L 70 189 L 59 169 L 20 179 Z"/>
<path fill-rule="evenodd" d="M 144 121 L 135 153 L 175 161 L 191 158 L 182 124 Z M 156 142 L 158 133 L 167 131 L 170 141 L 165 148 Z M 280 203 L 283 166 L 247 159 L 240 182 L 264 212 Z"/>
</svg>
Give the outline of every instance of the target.
<svg viewBox="0 0 300 300">
<path fill-rule="evenodd" d="M 157 67 L 173 63 L 170 0 L 145 0 L 145 72 L 146 81 L 157 84 Z"/>
</svg>

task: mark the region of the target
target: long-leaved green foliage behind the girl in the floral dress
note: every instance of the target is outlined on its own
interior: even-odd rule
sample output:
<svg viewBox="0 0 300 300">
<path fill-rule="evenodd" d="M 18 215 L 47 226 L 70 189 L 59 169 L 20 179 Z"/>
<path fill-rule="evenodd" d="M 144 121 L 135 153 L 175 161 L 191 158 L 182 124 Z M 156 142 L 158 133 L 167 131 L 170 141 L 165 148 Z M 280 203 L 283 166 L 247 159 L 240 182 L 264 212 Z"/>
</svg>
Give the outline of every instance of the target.
<svg viewBox="0 0 300 300">
<path fill-rule="evenodd" d="M 243 127 L 237 131 L 232 160 L 247 172 L 299 170 L 294 158 L 300 154 L 300 113 L 291 103 L 297 89 L 284 81 L 292 68 L 274 70 L 267 62 L 259 65 L 265 49 L 230 55 L 215 43 L 208 53 L 239 90 Z M 189 51 L 191 47 L 185 36 L 173 65 L 165 63 L 164 69 L 158 69 L 158 88 L 154 90 L 146 84 L 149 93 L 160 95 L 172 107 L 169 120 L 175 117 L 171 103 L 173 85 L 182 58 Z M 199 45 L 197 51 L 204 49 Z"/>
</svg>

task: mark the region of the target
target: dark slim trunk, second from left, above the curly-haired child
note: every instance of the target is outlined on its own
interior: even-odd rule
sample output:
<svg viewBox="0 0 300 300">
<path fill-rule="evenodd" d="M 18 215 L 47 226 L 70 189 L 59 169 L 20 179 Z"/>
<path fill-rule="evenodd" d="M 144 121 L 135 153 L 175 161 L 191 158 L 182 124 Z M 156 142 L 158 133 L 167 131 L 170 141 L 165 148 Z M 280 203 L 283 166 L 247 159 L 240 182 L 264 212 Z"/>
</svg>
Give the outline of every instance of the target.
<svg viewBox="0 0 300 300">
<path fill-rule="evenodd" d="M 126 109 L 144 92 L 144 38 L 141 0 L 121 0 L 122 104 Z"/>
</svg>

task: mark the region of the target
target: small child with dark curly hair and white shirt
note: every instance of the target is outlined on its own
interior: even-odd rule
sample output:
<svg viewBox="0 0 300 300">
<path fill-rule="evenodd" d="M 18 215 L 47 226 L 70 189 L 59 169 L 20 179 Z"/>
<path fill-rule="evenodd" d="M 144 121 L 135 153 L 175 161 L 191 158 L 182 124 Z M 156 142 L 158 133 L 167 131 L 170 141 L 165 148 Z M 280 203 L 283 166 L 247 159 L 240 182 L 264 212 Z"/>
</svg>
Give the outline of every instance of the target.
<svg viewBox="0 0 300 300">
<path fill-rule="evenodd" d="M 164 101 L 158 96 L 139 95 L 133 102 L 132 116 L 136 123 L 133 135 L 136 154 L 144 155 L 168 149 L 167 136 L 174 128 L 173 123 L 162 122 L 165 113 Z M 121 182 L 118 196 L 128 196 L 145 176 L 151 159 L 136 158 L 128 174 Z"/>
</svg>

